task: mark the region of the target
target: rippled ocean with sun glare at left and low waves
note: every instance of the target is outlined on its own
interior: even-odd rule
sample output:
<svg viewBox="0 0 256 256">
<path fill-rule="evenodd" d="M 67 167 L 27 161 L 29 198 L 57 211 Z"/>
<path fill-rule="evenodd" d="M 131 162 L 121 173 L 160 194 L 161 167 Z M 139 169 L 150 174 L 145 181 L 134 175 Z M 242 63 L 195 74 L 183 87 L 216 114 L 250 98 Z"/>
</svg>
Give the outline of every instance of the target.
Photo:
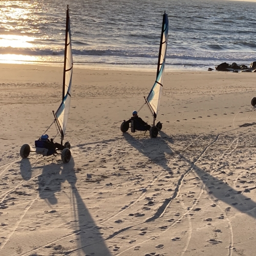
<svg viewBox="0 0 256 256">
<path fill-rule="evenodd" d="M 1 0 L 0 62 L 62 66 L 67 4 L 76 68 L 155 70 L 164 11 L 166 71 L 256 61 L 254 2 Z"/>
</svg>

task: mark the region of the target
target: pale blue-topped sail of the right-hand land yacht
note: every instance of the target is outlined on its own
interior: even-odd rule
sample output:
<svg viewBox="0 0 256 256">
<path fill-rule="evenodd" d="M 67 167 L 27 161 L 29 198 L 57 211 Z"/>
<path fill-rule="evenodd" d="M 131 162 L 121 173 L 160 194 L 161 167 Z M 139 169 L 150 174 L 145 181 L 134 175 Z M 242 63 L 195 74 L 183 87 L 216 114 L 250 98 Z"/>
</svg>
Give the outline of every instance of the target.
<svg viewBox="0 0 256 256">
<path fill-rule="evenodd" d="M 150 103 L 152 109 L 154 110 L 154 118 L 157 117 L 157 112 L 160 105 L 160 99 L 162 94 L 167 40 L 168 40 L 168 16 L 164 12 L 159 56 L 158 56 L 158 65 L 157 65 L 157 78 L 151 89 L 150 94 L 148 94 L 146 98 L 148 103 Z"/>
</svg>

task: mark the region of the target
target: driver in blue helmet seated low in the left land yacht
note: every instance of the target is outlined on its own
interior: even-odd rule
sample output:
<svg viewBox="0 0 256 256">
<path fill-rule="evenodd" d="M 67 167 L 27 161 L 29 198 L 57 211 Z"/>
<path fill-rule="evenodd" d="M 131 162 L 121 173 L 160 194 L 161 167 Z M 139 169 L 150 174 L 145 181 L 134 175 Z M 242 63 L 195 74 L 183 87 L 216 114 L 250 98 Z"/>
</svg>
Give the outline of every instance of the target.
<svg viewBox="0 0 256 256">
<path fill-rule="evenodd" d="M 53 139 L 49 140 L 47 134 L 42 135 L 38 140 L 35 140 L 36 153 L 43 156 L 51 156 L 56 153 L 56 148 L 58 150 L 63 150 L 65 146 L 59 143 L 54 143 Z"/>
</svg>

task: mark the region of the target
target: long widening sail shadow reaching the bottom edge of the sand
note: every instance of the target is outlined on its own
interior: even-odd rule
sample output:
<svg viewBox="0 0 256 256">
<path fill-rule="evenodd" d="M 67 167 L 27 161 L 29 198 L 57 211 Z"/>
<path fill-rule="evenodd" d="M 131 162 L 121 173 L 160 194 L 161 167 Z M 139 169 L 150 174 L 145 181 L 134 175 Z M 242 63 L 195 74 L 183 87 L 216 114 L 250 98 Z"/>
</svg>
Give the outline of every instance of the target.
<svg viewBox="0 0 256 256">
<path fill-rule="evenodd" d="M 70 162 L 73 159 L 70 160 Z M 74 166 L 74 165 L 73 165 Z M 68 164 L 63 165 L 62 176 L 69 182 L 72 187 L 73 207 L 78 226 L 76 235 L 79 236 L 78 248 L 67 253 L 83 251 L 86 255 L 104 255 L 111 256 L 111 253 L 100 234 L 99 227 L 94 222 L 88 208 L 84 204 L 78 188 L 76 187 L 77 177 L 73 167 Z"/>
</svg>

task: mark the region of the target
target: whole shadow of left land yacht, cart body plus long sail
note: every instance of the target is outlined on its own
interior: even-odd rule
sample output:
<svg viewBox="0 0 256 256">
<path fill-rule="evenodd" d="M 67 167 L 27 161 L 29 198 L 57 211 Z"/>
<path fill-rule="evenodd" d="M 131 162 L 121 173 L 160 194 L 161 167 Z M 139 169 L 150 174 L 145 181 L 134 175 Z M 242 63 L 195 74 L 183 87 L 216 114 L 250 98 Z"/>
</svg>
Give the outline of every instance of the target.
<svg viewBox="0 0 256 256">
<path fill-rule="evenodd" d="M 67 180 L 72 188 L 74 221 L 77 221 L 77 227 L 74 233 L 76 238 L 79 239 L 77 240 L 77 248 L 67 251 L 65 255 L 69 255 L 75 251 L 82 251 L 84 255 L 109 256 L 111 253 L 76 188 L 77 177 L 74 166 L 73 158 L 71 158 L 68 164 L 45 165 L 42 174 L 38 177 L 39 196 L 47 200 L 51 205 L 57 204 L 58 201 L 55 193 L 60 191 L 61 183 Z"/>
</svg>

